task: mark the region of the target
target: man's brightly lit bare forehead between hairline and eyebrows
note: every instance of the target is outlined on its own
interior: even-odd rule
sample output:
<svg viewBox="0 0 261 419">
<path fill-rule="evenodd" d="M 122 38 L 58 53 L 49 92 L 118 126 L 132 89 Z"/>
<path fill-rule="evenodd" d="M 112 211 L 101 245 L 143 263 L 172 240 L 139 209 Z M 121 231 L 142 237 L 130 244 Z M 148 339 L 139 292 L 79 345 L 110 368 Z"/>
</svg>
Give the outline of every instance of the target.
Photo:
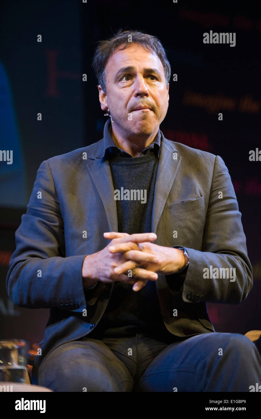
<svg viewBox="0 0 261 419">
<path fill-rule="evenodd" d="M 132 44 L 125 49 L 120 50 L 124 46 L 120 45 L 110 56 L 106 65 L 106 72 L 116 73 L 121 67 L 138 66 L 139 68 L 154 67 L 164 74 L 164 68 L 157 54 L 154 51 L 145 49 L 142 45 Z"/>
</svg>

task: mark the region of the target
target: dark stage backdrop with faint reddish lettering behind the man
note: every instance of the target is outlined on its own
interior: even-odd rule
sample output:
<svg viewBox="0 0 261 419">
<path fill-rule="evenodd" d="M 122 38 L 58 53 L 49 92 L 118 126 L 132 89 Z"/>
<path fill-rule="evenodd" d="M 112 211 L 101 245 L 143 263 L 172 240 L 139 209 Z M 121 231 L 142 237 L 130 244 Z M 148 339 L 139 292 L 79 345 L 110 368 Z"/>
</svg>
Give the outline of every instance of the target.
<svg viewBox="0 0 261 419">
<path fill-rule="evenodd" d="M 261 149 L 261 14 L 251 1 L 200 3 L 46 0 L 2 5 L 0 149 L 13 150 L 13 164 L 0 161 L 0 338 L 31 344 L 42 339 L 49 310 L 19 308 L 6 294 L 15 231 L 42 161 L 103 137 L 107 117 L 91 59 L 96 42 L 119 28 L 158 36 L 172 75 L 177 74 L 177 81 L 170 80 L 169 109 L 160 126 L 165 137 L 220 155 L 232 178 L 254 285 L 240 305 L 208 304 L 214 328 L 241 334 L 261 330 L 261 163 L 249 161 L 249 151 Z M 204 44 L 203 34 L 210 30 L 235 32 L 235 47 Z M 39 34 L 42 42 L 37 42 Z M 259 341 L 257 346 L 260 351 Z"/>
</svg>

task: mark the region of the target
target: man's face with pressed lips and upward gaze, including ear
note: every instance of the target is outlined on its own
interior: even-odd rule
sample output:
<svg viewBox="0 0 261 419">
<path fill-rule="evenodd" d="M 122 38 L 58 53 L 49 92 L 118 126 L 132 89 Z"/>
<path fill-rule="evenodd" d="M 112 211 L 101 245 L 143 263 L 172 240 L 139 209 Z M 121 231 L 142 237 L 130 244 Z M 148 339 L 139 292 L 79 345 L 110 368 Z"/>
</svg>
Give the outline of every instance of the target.
<svg viewBox="0 0 261 419">
<path fill-rule="evenodd" d="M 158 131 L 167 114 L 169 85 L 156 54 L 139 44 L 117 49 L 106 66 L 106 93 L 98 88 L 101 108 L 109 108 L 116 132 L 150 135 Z M 149 109 L 135 110 L 137 106 Z"/>
</svg>

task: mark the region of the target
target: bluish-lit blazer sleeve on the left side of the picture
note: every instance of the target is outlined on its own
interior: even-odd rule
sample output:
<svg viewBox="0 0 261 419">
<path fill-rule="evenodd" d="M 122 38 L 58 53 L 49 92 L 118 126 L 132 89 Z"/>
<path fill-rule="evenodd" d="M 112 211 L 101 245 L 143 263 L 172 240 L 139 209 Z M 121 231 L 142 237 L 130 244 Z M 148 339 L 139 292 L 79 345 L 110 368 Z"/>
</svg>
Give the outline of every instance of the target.
<svg viewBox="0 0 261 419">
<path fill-rule="evenodd" d="M 6 277 L 8 296 L 25 308 L 68 304 L 75 312 L 86 310 L 81 276 L 85 256 L 65 256 L 63 217 L 52 173 L 44 160 L 16 230 L 16 251 Z"/>
</svg>

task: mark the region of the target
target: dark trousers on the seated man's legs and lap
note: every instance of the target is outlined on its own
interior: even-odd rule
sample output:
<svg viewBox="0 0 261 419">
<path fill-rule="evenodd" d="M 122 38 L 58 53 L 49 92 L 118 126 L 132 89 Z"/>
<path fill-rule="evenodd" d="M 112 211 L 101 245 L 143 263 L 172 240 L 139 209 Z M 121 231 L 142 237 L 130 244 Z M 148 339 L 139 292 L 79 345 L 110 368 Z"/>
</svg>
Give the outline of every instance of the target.
<svg viewBox="0 0 261 419">
<path fill-rule="evenodd" d="M 61 392 L 249 392 L 256 383 L 261 385 L 256 345 L 244 335 L 219 332 L 171 344 L 143 334 L 102 340 L 87 335 L 50 352 L 38 373 L 39 385 Z"/>
</svg>

